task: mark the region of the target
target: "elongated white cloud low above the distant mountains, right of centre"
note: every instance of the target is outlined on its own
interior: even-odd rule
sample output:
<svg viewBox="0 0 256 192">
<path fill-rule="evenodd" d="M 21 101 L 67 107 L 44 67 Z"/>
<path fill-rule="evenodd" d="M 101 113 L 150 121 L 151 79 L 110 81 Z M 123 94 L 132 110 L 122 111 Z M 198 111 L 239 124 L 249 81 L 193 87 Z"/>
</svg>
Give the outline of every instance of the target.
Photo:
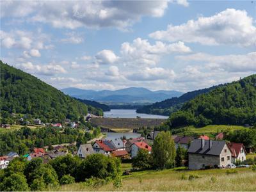
<svg viewBox="0 0 256 192">
<path fill-rule="evenodd" d="M 138 72 L 128 74 L 126 77 L 131 81 L 156 81 L 159 79 L 169 79 L 174 76 L 175 72 L 173 70 L 161 67 L 146 67 L 144 70 L 138 70 Z"/>
</svg>

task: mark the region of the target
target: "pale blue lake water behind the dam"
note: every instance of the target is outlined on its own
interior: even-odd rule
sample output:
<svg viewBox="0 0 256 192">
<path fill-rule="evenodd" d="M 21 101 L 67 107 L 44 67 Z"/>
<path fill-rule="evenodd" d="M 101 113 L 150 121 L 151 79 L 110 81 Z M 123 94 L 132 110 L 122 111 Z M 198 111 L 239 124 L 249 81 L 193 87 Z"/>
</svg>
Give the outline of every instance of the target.
<svg viewBox="0 0 256 192">
<path fill-rule="evenodd" d="M 137 116 L 141 118 L 168 118 L 168 116 L 163 115 L 136 113 L 136 109 L 111 109 L 110 111 L 104 112 L 104 117 L 111 118 L 136 118 Z"/>
</svg>

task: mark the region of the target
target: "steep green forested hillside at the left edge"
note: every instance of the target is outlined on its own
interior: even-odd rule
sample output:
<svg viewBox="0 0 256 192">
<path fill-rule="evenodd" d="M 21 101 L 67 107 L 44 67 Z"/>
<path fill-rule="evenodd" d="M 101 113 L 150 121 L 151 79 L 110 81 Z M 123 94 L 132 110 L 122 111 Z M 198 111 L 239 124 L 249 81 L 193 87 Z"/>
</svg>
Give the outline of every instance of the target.
<svg viewBox="0 0 256 192">
<path fill-rule="evenodd" d="M 12 113 L 42 122 L 60 122 L 65 118 L 78 120 L 88 113 L 88 106 L 65 95 L 40 79 L 0 61 L 1 120 L 12 121 Z M 93 109 L 102 115 L 101 109 Z M 89 111 L 90 112 L 90 111 Z M 21 115 L 20 115 L 21 114 Z"/>
</svg>

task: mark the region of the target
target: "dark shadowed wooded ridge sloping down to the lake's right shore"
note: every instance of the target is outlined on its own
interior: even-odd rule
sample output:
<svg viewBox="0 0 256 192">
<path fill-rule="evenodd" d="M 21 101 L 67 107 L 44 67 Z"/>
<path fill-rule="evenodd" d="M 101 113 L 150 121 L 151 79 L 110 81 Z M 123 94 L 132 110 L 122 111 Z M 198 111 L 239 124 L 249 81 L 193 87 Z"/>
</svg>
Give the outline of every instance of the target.
<svg viewBox="0 0 256 192">
<path fill-rule="evenodd" d="M 187 102 L 188 100 L 191 100 L 202 93 L 208 93 L 219 86 L 223 86 L 223 84 L 220 84 L 218 86 L 212 86 L 210 88 L 204 88 L 201 90 L 195 90 L 193 92 L 184 93 L 180 97 L 173 97 L 171 99 L 166 99 L 161 102 L 156 102 L 154 104 L 143 106 L 142 108 L 137 109 L 136 112 L 169 116 L 171 113 L 180 109 L 184 102 Z"/>
</svg>

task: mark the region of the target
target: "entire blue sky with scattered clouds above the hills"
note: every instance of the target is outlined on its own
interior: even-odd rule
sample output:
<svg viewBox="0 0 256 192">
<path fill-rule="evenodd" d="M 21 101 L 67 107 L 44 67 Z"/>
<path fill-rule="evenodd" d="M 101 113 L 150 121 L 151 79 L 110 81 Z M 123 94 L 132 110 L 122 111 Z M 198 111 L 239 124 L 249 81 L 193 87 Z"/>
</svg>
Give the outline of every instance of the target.
<svg viewBox="0 0 256 192">
<path fill-rule="evenodd" d="M 1 1 L 1 60 L 62 89 L 188 92 L 256 74 L 256 1 Z"/>
</svg>

